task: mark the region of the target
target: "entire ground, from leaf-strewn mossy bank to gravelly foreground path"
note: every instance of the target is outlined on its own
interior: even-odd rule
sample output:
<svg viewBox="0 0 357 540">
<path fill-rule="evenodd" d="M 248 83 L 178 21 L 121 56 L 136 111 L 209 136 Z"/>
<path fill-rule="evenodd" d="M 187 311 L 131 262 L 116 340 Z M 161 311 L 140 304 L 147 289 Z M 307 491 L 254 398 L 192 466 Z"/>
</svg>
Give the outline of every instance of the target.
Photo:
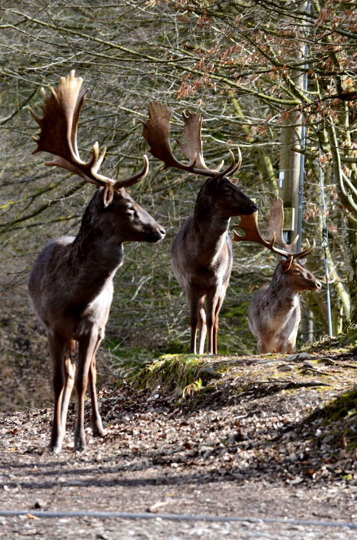
<svg viewBox="0 0 357 540">
<path fill-rule="evenodd" d="M 104 437 L 91 437 L 88 400 L 87 451 L 73 453 L 74 403 L 59 455 L 47 449 L 50 408 L 1 414 L 0 509 L 29 515 L 0 515 L 0 538 L 357 538 L 357 353 L 201 360 L 202 384 L 185 392 L 155 377 L 101 390 Z M 35 519 L 36 510 L 154 519 Z M 166 514 L 244 521 L 169 521 Z"/>
</svg>

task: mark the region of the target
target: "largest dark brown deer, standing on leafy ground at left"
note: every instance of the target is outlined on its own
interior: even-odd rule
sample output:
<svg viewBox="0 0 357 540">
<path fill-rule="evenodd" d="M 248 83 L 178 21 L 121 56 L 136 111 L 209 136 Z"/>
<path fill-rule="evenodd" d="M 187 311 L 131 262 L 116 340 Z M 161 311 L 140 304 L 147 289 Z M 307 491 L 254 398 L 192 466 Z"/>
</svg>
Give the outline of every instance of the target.
<svg viewBox="0 0 357 540">
<path fill-rule="evenodd" d="M 77 424 L 74 450 L 85 449 L 84 399 L 89 379 L 93 435 L 103 433 L 95 391 L 95 353 L 104 336 L 113 296 L 113 277 L 123 262 L 123 242 L 157 242 L 163 228 L 125 191 L 148 172 L 144 156 L 142 171 L 131 178 L 114 181 L 98 173 L 104 152 L 98 159 L 98 143 L 88 163 L 77 149 L 77 124 L 86 93 L 83 79 L 74 70 L 61 77 L 56 89 L 42 106 L 43 118 L 31 109 L 41 131 L 33 137 L 32 152 L 54 154 L 46 165 L 58 165 L 96 184 L 99 189 L 88 204 L 77 237 L 51 240 L 32 269 L 29 292 L 33 308 L 47 329 L 53 367 L 54 417 L 50 448 L 58 453 L 66 433 L 68 403 L 74 384 L 77 392 Z M 78 342 L 78 367 L 72 349 Z"/>
</svg>

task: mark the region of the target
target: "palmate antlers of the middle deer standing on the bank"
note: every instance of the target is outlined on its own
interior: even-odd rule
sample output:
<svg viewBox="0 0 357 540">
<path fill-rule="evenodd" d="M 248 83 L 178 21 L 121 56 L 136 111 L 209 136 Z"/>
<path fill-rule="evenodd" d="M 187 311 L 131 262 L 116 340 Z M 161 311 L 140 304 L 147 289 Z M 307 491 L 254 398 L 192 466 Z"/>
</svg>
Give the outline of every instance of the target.
<svg viewBox="0 0 357 540">
<path fill-rule="evenodd" d="M 188 116 L 183 112 L 184 122 L 184 141 L 180 142 L 176 139 L 182 153 L 190 160 L 188 165 L 182 163 L 175 158 L 170 145 L 169 122 L 171 111 L 166 104 L 160 102 L 150 102 L 148 105 L 149 119 L 143 124 L 142 136 L 150 145 L 150 153 L 154 158 L 161 159 L 164 162 L 164 169 L 168 167 L 176 167 L 183 171 L 192 172 L 195 174 L 203 174 L 208 177 L 223 178 L 234 174 L 242 163 L 241 151 L 239 152 L 238 163 L 235 163 L 233 152 L 231 154 L 231 164 L 221 171 L 223 161 L 215 168 L 209 168 L 203 159 L 202 154 L 202 139 L 201 139 L 201 114 L 188 113 Z"/>
</svg>

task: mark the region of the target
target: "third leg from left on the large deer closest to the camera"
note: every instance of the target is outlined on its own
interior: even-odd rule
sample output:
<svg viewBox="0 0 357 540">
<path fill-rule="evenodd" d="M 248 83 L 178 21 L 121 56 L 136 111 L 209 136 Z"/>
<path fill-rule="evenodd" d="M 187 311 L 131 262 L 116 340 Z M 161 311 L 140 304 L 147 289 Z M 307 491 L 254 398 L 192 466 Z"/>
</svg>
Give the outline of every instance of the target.
<svg viewBox="0 0 357 540">
<path fill-rule="evenodd" d="M 93 355 L 98 343 L 98 332 L 91 332 L 79 341 L 78 368 L 75 375 L 75 391 L 77 392 L 77 424 L 74 431 L 73 450 L 86 449 L 84 433 L 84 399 L 88 386 L 88 374 L 92 365 Z"/>
</svg>

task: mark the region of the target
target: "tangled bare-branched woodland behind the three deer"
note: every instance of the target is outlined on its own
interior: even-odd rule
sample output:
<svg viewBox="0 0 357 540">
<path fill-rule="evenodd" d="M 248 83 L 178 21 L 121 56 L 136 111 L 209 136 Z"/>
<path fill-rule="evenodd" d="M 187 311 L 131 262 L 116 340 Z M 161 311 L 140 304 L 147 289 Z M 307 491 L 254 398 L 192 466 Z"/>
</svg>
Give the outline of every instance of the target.
<svg viewBox="0 0 357 540">
<path fill-rule="evenodd" d="M 325 230 L 333 333 L 357 322 L 355 5 L 341 0 L 2 2 L 1 403 L 15 380 L 13 407 L 39 406 L 51 395 L 50 377 L 48 386 L 43 380 L 42 387 L 37 384 L 30 401 L 29 381 L 21 380 L 21 373 L 36 366 L 50 370 L 44 328 L 28 300 L 28 276 L 48 240 L 77 233 L 95 189 L 64 170 L 45 167 L 46 156 L 31 156 L 38 126 L 28 107 L 39 113 L 40 87 L 56 86 L 72 69 L 90 89 L 79 121 L 82 159 L 98 140 L 100 149 L 107 147 L 102 173 L 123 178 L 141 167 L 148 150 L 139 120 L 147 118 L 150 100 L 173 107 L 171 141 L 182 135 L 182 111 L 200 112 L 206 162 L 227 162 L 229 149 L 236 155 L 241 149 L 238 186 L 256 199 L 260 222 L 269 215 L 270 197 L 279 194 L 284 134 L 292 133 L 289 156 L 305 159 L 302 238 L 317 241 L 307 265 L 324 281 L 322 293 L 303 295 L 305 321 L 313 323 L 313 339 L 328 333 Z M 143 361 L 188 352 L 187 300 L 171 271 L 170 246 L 193 212 L 203 181 L 162 170 L 151 157 L 148 177 L 132 187 L 134 199 L 167 235 L 159 244 L 125 246 L 100 352 L 112 384 Z M 230 230 L 238 221 L 231 221 Z M 219 321 L 220 353 L 256 353 L 248 307 L 275 264 L 262 246 L 234 245 Z M 299 334 L 298 345 L 305 338 Z"/>
</svg>

